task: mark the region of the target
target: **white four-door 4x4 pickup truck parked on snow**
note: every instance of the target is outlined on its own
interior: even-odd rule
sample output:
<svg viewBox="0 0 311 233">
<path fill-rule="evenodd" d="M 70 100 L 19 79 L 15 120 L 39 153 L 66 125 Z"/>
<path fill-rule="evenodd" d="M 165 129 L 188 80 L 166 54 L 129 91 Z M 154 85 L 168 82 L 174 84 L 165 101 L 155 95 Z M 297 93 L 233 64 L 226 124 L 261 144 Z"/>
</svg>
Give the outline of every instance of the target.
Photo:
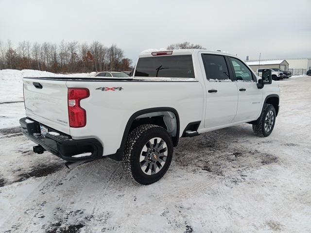
<svg viewBox="0 0 311 233">
<path fill-rule="evenodd" d="M 109 156 L 141 184 L 168 170 L 180 137 L 250 123 L 273 131 L 280 89 L 234 55 L 145 51 L 131 77 L 23 78 L 22 133 L 67 161 Z"/>
</svg>

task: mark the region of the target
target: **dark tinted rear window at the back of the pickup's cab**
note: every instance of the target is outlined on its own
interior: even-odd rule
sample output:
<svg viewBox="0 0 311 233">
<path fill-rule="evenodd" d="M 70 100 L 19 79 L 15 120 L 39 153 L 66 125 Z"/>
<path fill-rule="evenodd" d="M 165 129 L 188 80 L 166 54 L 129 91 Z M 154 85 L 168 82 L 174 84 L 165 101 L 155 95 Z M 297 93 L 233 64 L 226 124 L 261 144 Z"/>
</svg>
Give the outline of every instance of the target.
<svg viewBox="0 0 311 233">
<path fill-rule="evenodd" d="M 135 76 L 194 78 L 191 55 L 154 56 L 138 59 Z"/>
</svg>

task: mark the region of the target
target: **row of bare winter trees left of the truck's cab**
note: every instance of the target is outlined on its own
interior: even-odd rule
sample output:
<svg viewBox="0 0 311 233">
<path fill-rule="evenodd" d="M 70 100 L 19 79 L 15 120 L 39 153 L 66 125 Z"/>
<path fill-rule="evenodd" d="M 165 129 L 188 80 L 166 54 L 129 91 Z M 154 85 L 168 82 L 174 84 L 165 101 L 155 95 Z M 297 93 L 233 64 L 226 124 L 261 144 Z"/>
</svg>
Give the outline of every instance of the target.
<svg viewBox="0 0 311 233">
<path fill-rule="evenodd" d="M 94 41 L 59 44 L 22 41 L 17 47 L 0 41 L 0 69 L 37 69 L 54 73 L 131 70 L 132 61 L 116 45 L 105 47 Z"/>
</svg>

